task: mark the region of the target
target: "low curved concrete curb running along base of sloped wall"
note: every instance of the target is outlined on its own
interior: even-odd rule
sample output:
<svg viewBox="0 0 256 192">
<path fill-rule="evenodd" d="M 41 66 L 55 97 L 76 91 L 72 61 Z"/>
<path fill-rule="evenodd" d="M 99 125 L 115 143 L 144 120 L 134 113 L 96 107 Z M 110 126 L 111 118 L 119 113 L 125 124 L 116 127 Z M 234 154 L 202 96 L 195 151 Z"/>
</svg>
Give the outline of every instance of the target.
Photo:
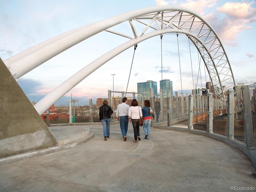
<svg viewBox="0 0 256 192">
<path fill-rule="evenodd" d="M 69 149 L 69 148 L 78 146 L 82 143 L 88 142 L 93 137 L 94 137 L 94 133 L 90 129 L 88 129 L 83 134 L 80 134 L 72 139 L 58 140 L 58 146 L 56 147 L 51 147 L 43 150 L 32 151 L 24 154 L 18 154 L 18 155 L 2 158 L 0 159 L 0 166 L 4 164 L 18 162 L 20 160 L 25 160 L 25 159 L 36 157 L 36 156 L 46 155 L 46 154 L 58 152 L 61 150 Z"/>
</svg>

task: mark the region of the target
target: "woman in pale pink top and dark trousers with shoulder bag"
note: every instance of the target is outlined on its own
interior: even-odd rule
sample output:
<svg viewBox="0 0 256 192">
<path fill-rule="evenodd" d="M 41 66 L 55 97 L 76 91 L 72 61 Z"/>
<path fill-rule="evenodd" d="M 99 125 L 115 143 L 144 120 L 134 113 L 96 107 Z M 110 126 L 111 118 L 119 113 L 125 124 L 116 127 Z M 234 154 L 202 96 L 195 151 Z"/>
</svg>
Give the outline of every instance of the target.
<svg viewBox="0 0 256 192">
<path fill-rule="evenodd" d="M 142 118 L 142 111 L 136 99 L 132 100 L 132 105 L 130 106 L 128 116 L 130 118 L 130 122 L 132 122 L 134 130 L 134 142 L 138 142 L 138 140 L 140 141 L 139 120 Z"/>
</svg>

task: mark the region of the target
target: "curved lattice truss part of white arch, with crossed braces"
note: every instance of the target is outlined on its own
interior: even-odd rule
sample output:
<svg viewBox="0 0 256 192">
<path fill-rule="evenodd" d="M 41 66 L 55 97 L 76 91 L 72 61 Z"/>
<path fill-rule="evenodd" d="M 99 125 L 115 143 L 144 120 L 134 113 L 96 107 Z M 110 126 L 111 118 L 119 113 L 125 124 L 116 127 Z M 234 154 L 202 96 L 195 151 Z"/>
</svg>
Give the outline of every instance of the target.
<svg viewBox="0 0 256 192">
<path fill-rule="evenodd" d="M 136 31 L 134 22 L 146 26 L 140 34 Z M 186 34 L 204 61 L 217 98 L 226 100 L 225 92 L 235 87 L 233 73 L 220 38 L 203 18 L 191 11 L 176 9 L 139 16 L 129 20 L 129 23 L 134 38 L 146 34 L 150 29 L 177 29 L 180 33 Z M 106 31 L 132 39 L 126 34 Z"/>
</svg>

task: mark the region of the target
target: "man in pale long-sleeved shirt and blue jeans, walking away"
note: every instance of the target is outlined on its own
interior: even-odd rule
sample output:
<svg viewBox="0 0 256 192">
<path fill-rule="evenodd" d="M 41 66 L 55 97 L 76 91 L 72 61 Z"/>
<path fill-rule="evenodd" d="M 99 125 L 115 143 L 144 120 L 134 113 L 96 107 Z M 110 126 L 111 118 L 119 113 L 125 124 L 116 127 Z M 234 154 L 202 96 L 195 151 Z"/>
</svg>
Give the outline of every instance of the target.
<svg viewBox="0 0 256 192">
<path fill-rule="evenodd" d="M 120 122 L 120 129 L 121 129 L 124 141 L 126 141 L 126 134 L 128 131 L 129 108 L 130 106 L 127 104 L 127 98 L 124 97 L 122 98 L 122 103 L 119 104 L 116 109 L 116 117 L 117 117 L 117 120 Z"/>
</svg>

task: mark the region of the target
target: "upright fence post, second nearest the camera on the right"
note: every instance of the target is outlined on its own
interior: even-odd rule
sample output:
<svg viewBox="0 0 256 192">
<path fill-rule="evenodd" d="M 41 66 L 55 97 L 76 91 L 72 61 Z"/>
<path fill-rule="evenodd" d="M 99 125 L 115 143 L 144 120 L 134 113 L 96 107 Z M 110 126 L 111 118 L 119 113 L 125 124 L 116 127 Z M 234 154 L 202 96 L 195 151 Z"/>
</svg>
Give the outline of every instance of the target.
<svg viewBox="0 0 256 192">
<path fill-rule="evenodd" d="M 228 90 L 228 109 L 227 109 L 227 118 L 228 118 L 228 138 L 234 139 L 234 90 Z"/>
</svg>

